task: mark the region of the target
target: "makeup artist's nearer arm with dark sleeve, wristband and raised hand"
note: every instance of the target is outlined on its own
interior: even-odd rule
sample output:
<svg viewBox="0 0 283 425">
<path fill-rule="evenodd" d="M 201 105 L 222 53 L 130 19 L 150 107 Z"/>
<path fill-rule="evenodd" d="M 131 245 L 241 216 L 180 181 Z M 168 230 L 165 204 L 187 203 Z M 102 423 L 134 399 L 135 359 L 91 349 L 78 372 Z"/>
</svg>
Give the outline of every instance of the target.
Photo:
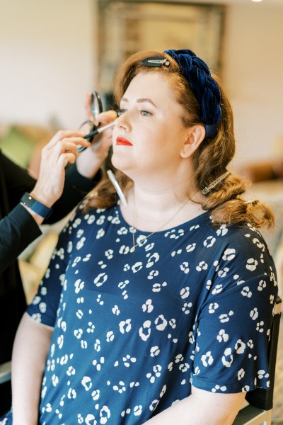
<svg viewBox="0 0 283 425">
<path fill-rule="evenodd" d="M 0 152 L 1 181 L 5 182 L 6 189 L 6 196 L 5 193 L 3 196 L 4 205 L 1 205 L 3 219 L 0 221 L 0 273 L 41 234 L 39 225 L 42 224 L 43 217 L 19 203 L 21 197 L 28 192 L 47 208 L 52 207 L 62 195 L 65 166 L 68 162 L 75 162 L 78 145 L 89 146 L 83 139 L 83 133 L 57 132 L 42 149 L 40 176 L 37 181 L 28 176 L 25 169 L 14 164 Z M 79 200 L 83 196 L 84 194 L 80 193 Z M 72 208 L 75 205 L 76 203 Z M 71 208 L 67 212 L 69 211 Z M 62 217 L 64 215 L 60 218 Z"/>
</svg>

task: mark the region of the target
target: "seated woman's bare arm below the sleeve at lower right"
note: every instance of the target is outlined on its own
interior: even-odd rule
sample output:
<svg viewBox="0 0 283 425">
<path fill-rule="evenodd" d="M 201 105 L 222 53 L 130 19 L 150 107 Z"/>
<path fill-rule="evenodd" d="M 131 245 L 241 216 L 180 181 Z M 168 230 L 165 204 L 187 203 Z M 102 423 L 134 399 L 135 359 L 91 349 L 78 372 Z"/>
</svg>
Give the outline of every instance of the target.
<svg viewBox="0 0 283 425">
<path fill-rule="evenodd" d="M 231 425 L 246 392 L 219 394 L 192 387 L 192 395 L 157 414 L 146 425 Z"/>
</svg>

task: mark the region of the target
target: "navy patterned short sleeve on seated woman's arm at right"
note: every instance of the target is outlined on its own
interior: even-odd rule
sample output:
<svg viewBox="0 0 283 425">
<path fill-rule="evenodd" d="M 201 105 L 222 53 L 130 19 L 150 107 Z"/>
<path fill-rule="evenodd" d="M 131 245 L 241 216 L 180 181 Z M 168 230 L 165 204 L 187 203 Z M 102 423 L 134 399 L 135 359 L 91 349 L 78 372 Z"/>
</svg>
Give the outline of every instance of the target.
<svg viewBox="0 0 283 425">
<path fill-rule="evenodd" d="M 265 244 L 255 241 L 227 249 L 214 264 L 197 321 L 195 387 L 231 393 L 269 387 L 267 346 L 277 281 Z"/>
</svg>

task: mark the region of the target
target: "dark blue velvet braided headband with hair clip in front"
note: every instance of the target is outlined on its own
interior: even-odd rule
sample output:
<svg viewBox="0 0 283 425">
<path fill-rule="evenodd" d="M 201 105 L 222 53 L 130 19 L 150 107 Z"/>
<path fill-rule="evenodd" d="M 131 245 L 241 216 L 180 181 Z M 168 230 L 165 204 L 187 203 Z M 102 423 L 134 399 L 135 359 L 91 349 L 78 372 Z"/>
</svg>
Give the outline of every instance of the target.
<svg viewBox="0 0 283 425">
<path fill-rule="evenodd" d="M 212 78 L 207 64 L 197 57 L 192 50 L 165 50 L 179 65 L 180 72 L 189 81 L 197 101 L 200 103 L 201 120 L 204 123 L 206 137 L 217 135 L 217 124 L 221 120 L 221 91 Z M 168 60 L 149 57 L 142 61 L 147 66 L 169 66 Z"/>
</svg>

